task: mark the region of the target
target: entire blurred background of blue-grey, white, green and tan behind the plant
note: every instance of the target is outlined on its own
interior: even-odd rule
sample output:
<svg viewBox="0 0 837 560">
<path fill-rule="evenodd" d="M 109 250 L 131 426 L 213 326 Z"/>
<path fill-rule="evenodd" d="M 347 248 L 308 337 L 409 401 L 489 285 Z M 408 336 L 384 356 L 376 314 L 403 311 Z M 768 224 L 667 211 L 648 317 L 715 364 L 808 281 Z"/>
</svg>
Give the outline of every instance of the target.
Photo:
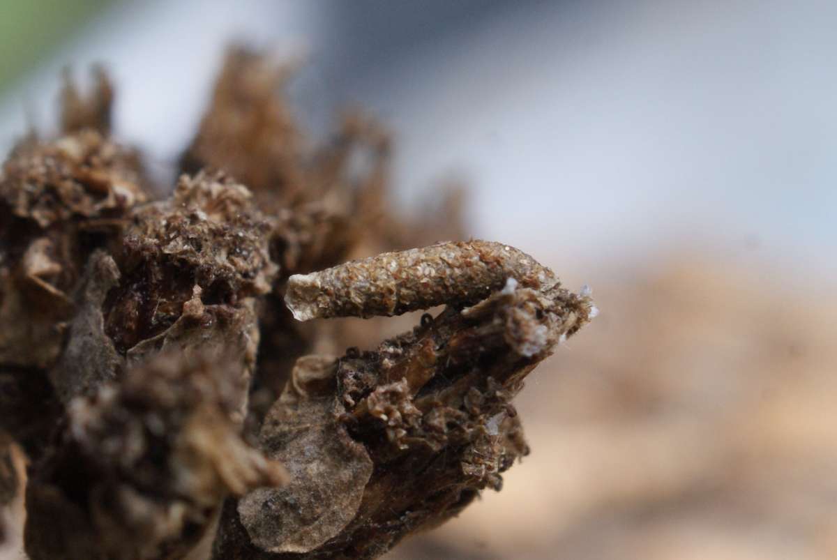
<svg viewBox="0 0 837 560">
<path fill-rule="evenodd" d="M 521 393 L 503 491 L 390 558 L 833 558 L 835 28 L 816 0 L 0 0 L 0 149 L 101 61 L 171 182 L 230 42 L 295 61 L 312 144 L 367 110 L 399 205 L 464 182 L 475 237 L 602 311 Z"/>
</svg>

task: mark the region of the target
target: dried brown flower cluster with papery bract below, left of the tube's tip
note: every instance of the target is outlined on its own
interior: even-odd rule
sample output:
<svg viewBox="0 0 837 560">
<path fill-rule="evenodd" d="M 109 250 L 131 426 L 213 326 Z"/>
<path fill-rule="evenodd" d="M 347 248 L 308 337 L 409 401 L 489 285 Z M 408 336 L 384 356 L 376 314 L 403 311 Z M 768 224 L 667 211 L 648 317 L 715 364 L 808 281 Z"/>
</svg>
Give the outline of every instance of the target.
<svg viewBox="0 0 837 560">
<path fill-rule="evenodd" d="M 103 310 L 105 332 L 129 362 L 170 348 L 237 357 L 234 376 L 247 387 L 259 344 L 254 297 L 276 273 L 270 221 L 251 198 L 223 174 L 201 173 L 132 214 L 115 253 L 123 276 Z"/>
</svg>

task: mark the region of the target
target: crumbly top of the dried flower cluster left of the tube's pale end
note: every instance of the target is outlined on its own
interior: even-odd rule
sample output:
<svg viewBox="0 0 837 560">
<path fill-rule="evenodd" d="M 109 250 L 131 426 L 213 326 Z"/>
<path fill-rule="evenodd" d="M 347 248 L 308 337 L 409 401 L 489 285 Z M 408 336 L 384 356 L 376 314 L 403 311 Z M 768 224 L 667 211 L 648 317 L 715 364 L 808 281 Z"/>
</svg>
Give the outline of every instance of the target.
<svg viewBox="0 0 837 560">
<path fill-rule="evenodd" d="M 249 191 L 220 175 L 181 177 L 172 198 L 138 208 L 115 251 L 123 278 L 105 302 L 116 347 L 166 331 L 196 297 L 193 306 L 235 307 L 270 290 L 269 228 Z"/>
</svg>

